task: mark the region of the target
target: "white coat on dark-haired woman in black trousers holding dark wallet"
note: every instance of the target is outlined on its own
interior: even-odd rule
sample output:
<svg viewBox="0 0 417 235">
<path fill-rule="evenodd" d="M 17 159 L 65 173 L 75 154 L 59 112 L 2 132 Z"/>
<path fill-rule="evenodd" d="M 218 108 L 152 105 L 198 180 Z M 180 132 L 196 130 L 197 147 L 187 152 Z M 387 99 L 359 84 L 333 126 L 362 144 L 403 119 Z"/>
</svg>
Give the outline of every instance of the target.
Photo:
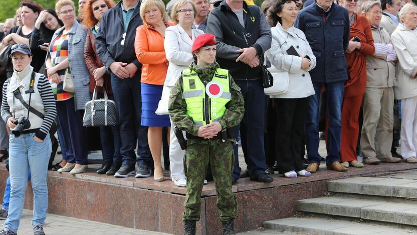
<svg viewBox="0 0 417 235">
<path fill-rule="evenodd" d="M 280 23 L 271 28 L 272 45 L 265 52 L 265 56 L 271 62 L 271 65 L 279 70 L 289 72 L 290 87 L 289 90 L 281 95 L 271 95 L 271 98 L 304 98 L 313 95 L 314 87 L 311 82 L 310 73 L 316 66 L 316 57 L 311 50 L 310 44 L 304 33 L 294 26 L 284 30 Z M 297 50 L 301 56 L 308 56 L 311 60 L 308 71 L 301 69 L 302 57 L 287 54 L 287 49 L 291 46 Z"/>
</svg>

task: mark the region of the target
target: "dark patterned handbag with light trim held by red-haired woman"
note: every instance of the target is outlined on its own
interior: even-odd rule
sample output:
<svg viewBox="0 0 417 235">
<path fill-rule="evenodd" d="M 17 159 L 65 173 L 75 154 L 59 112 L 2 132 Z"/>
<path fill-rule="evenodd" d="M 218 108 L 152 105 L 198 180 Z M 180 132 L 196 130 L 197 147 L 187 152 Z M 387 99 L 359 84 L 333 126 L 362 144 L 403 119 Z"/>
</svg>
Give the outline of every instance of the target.
<svg viewBox="0 0 417 235">
<path fill-rule="evenodd" d="M 97 99 L 95 87 L 93 99 L 85 104 L 84 127 L 116 126 L 119 124 L 116 103 L 108 98 L 106 89 L 103 91 L 104 99 Z"/>
</svg>

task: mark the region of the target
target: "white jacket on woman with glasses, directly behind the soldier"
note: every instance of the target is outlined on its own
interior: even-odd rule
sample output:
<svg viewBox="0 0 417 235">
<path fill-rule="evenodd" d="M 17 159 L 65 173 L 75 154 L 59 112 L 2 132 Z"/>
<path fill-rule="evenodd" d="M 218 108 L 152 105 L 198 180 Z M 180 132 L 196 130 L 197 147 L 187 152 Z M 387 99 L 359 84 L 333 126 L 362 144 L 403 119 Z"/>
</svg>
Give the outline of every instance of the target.
<svg viewBox="0 0 417 235">
<path fill-rule="evenodd" d="M 165 86 L 174 86 L 182 70 L 187 69 L 188 65 L 194 61 L 191 54 L 192 43 L 198 35 L 204 32 L 197 29 L 191 29 L 191 31 L 192 40 L 179 24 L 168 27 L 165 31 L 163 45 L 166 59 L 169 61 L 164 83 Z"/>
</svg>

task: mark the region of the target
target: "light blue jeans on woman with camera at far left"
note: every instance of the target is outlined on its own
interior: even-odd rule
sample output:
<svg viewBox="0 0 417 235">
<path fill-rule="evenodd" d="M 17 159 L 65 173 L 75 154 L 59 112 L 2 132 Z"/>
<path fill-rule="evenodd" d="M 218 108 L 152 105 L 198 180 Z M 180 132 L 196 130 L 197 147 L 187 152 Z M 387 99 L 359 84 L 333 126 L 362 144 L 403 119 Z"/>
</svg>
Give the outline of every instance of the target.
<svg viewBox="0 0 417 235">
<path fill-rule="evenodd" d="M 28 186 L 29 168 L 32 175 L 32 189 L 34 194 L 34 208 L 32 225 L 45 224 L 48 208 L 48 187 L 46 175 L 49 157 L 52 152 L 49 135 L 41 143 L 36 142 L 35 134 L 22 134 L 15 137 L 10 134 L 10 204 L 9 215 L 5 227 L 17 232 L 22 217 L 25 192 Z"/>
</svg>

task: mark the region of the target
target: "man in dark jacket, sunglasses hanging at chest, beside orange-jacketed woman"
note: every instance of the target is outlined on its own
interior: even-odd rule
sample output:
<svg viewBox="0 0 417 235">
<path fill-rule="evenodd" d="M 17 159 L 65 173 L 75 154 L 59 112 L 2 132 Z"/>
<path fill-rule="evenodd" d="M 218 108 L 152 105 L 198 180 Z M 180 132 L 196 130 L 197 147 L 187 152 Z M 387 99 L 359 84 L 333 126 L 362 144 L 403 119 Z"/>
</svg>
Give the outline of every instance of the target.
<svg viewBox="0 0 417 235">
<path fill-rule="evenodd" d="M 140 125 L 142 102 L 140 75 L 142 65 L 136 58 L 136 28 L 143 24 L 139 0 L 122 0 L 107 11 L 96 36 L 97 53 L 111 75 L 111 85 L 120 116 L 120 155 L 122 163 L 113 164 L 115 177 L 149 177 L 153 160 L 148 145 L 148 128 Z M 137 164 L 134 149 L 137 141 Z"/>
</svg>

